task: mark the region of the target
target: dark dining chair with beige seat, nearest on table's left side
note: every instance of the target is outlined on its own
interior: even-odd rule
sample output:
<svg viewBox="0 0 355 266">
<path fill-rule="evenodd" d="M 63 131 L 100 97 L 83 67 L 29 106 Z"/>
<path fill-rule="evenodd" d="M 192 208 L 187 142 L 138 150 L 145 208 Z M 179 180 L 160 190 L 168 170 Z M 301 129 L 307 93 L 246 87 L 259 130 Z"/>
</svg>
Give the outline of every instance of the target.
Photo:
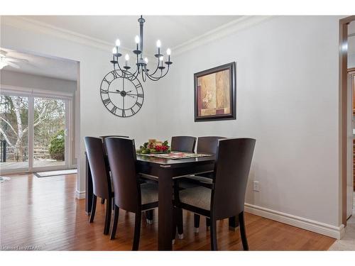
<svg viewBox="0 0 355 266">
<path fill-rule="evenodd" d="M 111 240 L 115 238 L 119 209 L 135 214 L 132 250 L 138 250 L 141 235 L 141 212 L 158 207 L 158 185 L 138 182 L 136 172 L 136 148 L 134 140 L 106 138 L 107 155 L 114 183 L 114 224 Z"/>
</svg>

